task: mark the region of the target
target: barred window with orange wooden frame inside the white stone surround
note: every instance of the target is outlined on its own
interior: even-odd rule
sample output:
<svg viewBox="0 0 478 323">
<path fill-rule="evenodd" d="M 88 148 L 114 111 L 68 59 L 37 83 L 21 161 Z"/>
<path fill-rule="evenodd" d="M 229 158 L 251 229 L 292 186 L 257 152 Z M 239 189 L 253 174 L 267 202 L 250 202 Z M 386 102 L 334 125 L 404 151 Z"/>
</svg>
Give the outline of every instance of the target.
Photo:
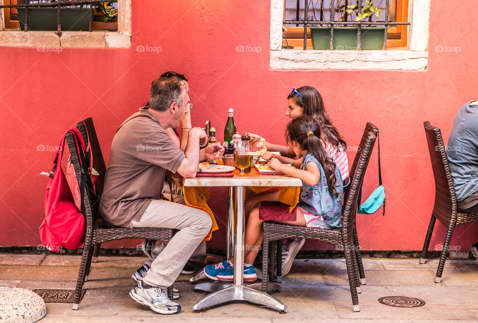
<svg viewBox="0 0 478 323">
<path fill-rule="evenodd" d="M 284 0 L 282 47 L 406 48 L 408 25 L 408 0 Z"/>
</svg>

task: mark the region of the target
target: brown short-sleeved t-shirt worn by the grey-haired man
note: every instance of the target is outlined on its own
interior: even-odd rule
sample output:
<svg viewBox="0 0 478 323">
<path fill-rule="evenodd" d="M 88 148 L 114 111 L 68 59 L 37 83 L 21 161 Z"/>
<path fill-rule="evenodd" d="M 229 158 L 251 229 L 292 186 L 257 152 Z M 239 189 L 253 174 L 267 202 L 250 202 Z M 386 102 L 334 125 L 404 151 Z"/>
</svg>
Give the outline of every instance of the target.
<svg viewBox="0 0 478 323">
<path fill-rule="evenodd" d="M 129 120 L 139 114 L 149 118 Z M 159 199 L 165 170 L 175 173 L 185 157 L 147 109 L 130 116 L 111 144 L 100 203 L 106 224 L 131 228 L 131 221 L 139 221 L 149 203 Z"/>
</svg>

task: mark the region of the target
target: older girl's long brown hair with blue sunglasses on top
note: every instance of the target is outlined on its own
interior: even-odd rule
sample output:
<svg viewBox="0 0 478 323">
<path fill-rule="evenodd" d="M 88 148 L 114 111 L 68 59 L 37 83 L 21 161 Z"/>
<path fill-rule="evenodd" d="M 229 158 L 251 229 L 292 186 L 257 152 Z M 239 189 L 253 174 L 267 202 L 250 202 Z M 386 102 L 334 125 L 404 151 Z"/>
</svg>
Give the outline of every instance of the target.
<svg viewBox="0 0 478 323">
<path fill-rule="evenodd" d="M 287 99 L 292 98 L 294 103 L 303 109 L 302 114 L 316 118 L 322 128 L 321 139 L 330 142 L 332 145 L 347 149 L 347 143 L 344 137 L 339 134 L 339 131 L 332 124 L 329 114 L 325 110 L 324 100 L 319 91 L 312 86 L 301 86 L 297 89 L 303 97 L 297 93 L 287 96 Z"/>
</svg>

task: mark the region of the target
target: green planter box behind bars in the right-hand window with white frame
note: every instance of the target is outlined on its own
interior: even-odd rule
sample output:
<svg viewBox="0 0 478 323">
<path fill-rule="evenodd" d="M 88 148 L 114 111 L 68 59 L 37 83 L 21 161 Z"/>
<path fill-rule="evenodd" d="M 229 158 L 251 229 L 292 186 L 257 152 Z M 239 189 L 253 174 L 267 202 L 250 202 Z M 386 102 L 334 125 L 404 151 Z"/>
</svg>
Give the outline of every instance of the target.
<svg viewBox="0 0 478 323">
<path fill-rule="evenodd" d="M 334 49 L 357 50 L 358 27 L 335 27 Z M 383 48 L 385 27 L 362 27 L 360 32 L 361 50 Z M 330 49 L 330 27 L 311 26 L 310 34 L 314 49 Z"/>
</svg>

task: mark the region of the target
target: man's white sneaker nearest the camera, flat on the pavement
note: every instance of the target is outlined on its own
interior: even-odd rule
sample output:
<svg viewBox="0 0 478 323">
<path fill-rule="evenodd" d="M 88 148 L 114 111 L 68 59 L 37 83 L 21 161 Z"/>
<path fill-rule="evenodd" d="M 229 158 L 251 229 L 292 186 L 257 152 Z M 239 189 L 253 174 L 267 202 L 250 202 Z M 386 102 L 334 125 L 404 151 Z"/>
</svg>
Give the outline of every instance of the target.
<svg viewBox="0 0 478 323">
<path fill-rule="evenodd" d="M 142 283 L 138 282 L 129 296 L 159 314 L 175 314 L 181 310 L 181 305 L 171 301 L 166 291 L 160 287 L 143 288 Z"/>
</svg>

